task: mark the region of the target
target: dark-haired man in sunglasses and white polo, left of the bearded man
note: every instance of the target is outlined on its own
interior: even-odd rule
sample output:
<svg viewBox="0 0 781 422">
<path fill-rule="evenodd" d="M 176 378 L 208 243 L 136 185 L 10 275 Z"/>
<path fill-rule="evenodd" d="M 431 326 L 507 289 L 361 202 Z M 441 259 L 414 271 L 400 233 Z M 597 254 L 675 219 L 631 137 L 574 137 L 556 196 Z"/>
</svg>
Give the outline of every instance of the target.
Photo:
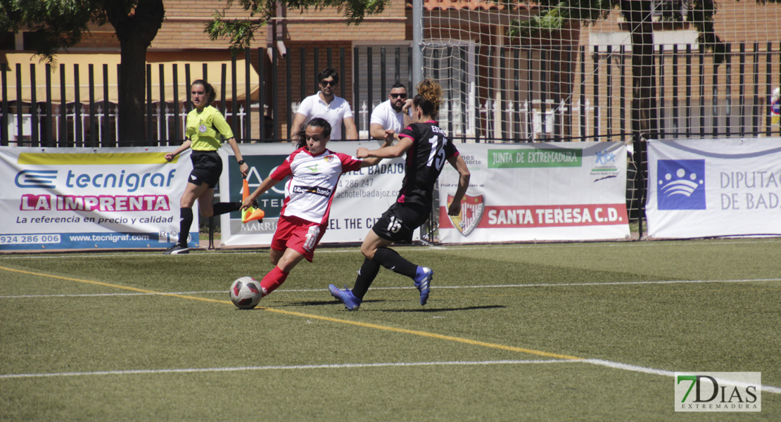
<svg viewBox="0 0 781 422">
<path fill-rule="evenodd" d="M 320 91 L 310 95 L 301 101 L 293 120 L 291 133 L 294 140 L 301 128 L 310 120 L 320 117 L 326 119 L 331 125 L 330 140 L 357 140 L 358 129 L 355 127 L 355 119 L 352 116 L 350 104 L 344 98 L 337 97 L 337 83 L 339 73 L 337 69 L 329 67 L 323 69 L 317 75 Z M 341 126 L 344 122 L 345 136 L 342 136 Z M 384 137 L 384 135 L 383 135 Z"/>
</svg>

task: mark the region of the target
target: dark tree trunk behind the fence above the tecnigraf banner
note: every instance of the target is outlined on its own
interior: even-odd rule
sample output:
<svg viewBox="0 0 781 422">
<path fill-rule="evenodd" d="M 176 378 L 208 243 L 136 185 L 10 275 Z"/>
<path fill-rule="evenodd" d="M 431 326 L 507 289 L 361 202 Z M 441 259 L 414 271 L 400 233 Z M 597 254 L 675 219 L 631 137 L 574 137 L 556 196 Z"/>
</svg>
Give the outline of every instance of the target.
<svg viewBox="0 0 781 422">
<path fill-rule="evenodd" d="M 119 146 L 145 144 L 144 99 L 146 51 L 162 26 L 162 0 L 138 0 L 135 9 L 127 0 L 106 0 L 109 22 L 119 39 Z"/>
</svg>

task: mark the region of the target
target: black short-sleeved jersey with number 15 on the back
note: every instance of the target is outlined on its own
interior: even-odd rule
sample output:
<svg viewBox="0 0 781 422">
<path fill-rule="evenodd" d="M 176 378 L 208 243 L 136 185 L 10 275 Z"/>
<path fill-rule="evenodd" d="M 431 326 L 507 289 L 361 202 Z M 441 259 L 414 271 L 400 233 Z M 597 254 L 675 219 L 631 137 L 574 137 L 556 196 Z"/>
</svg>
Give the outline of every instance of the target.
<svg viewBox="0 0 781 422">
<path fill-rule="evenodd" d="M 397 202 L 431 205 L 434 183 L 437 183 L 447 158 L 458 155 L 437 122 L 412 123 L 398 135 L 412 139 L 407 150 L 404 181 Z"/>
</svg>

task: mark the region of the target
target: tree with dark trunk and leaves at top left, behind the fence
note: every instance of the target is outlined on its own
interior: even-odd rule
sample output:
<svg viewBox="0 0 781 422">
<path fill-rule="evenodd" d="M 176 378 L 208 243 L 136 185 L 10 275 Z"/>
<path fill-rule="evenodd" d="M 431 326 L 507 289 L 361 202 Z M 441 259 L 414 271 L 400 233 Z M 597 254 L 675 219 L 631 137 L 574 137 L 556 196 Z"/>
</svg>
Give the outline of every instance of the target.
<svg viewBox="0 0 781 422">
<path fill-rule="evenodd" d="M 162 0 L 0 0 L 0 30 L 14 33 L 29 28 L 39 55 L 53 62 L 89 33 L 88 25 L 111 23 L 120 45 L 119 145 L 144 140 L 146 51 L 162 26 Z"/>
</svg>

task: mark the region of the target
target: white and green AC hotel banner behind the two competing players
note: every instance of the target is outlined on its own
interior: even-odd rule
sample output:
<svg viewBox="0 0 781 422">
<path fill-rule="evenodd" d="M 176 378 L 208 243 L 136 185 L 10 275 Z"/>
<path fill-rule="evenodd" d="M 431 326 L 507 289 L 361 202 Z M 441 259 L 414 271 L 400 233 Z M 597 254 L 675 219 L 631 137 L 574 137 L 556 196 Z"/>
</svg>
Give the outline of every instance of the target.
<svg viewBox="0 0 781 422">
<path fill-rule="evenodd" d="M 376 149 L 381 144 L 382 142 L 376 140 L 333 141 L 329 142 L 327 147 L 333 152 L 355 156 L 358 147 Z M 232 154 L 230 149 L 223 148 L 223 151 Z M 242 158 L 250 167 L 250 192 L 293 151 L 294 144 L 242 144 Z M 321 243 L 362 242 L 374 222 L 396 200 L 398 190 L 401 189 L 401 180 L 404 179 L 404 169 L 404 158 L 384 159 L 376 167 L 362 168 L 358 172 L 342 175 L 331 204 L 329 226 Z M 221 243 L 226 246 L 269 245 L 280 218 L 287 180 L 277 183 L 258 197 L 260 207 L 266 212 L 262 222 L 251 221 L 244 224 L 238 211 L 222 215 Z M 237 170 L 236 160 L 233 158 L 227 160 L 219 185 L 229 186 L 228 189 L 223 188 L 220 194 L 228 194 L 230 199 L 222 197 L 221 200 L 241 200 L 241 173 Z M 419 238 L 419 235 L 416 233 L 415 237 Z"/>
</svg>

